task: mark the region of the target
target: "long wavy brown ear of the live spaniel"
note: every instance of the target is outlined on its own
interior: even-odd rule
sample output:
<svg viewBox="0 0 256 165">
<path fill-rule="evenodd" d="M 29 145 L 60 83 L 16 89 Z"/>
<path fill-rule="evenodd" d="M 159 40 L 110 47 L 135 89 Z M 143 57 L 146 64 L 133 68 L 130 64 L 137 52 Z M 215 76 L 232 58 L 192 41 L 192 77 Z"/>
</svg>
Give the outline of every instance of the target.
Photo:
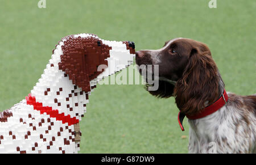
<svg viewBox="0 0 256 165">
<path fill-rule="evenodd" d="M 218 69 L 209 51 L 191 50 L 183 77 L 176 83 L 174 96 L 177 107 L 188 115 L 218 99 Z"/>
</svg>

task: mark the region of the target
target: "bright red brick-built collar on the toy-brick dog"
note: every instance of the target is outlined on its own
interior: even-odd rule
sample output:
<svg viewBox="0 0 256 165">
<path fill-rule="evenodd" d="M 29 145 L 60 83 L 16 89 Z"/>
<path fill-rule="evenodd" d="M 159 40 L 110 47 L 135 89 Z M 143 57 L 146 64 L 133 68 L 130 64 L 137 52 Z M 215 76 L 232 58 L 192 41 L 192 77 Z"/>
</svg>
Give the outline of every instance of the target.
<svg viewBox="0 0 256 165">
<path fill-rule="evenodd" d="M 62 121 L 62 123 L 68 123 L 68 125 L 73 125 L 79 123 L 79 120 L 76 117 L 70 115 L 65 116 L 64 113 L 60 113 L 57 109 L 52 109 L 52 107 L 43 107 L 43 103 L 36 102 L 35 97 L 32 97 L 31 94 L 26 96 L 27 104 L 33 105 L 34 110 L 40 111 L 40 114 L 46 113 L 50 117 L 56 118 L 56 120 Z"/>
</svg>

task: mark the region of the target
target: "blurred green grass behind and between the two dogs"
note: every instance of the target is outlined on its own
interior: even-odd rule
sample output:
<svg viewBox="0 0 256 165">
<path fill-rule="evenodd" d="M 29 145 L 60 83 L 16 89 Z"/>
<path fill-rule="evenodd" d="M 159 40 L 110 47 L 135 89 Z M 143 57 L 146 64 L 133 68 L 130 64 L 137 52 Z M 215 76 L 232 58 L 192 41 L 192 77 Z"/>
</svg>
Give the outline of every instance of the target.
<svg viewBox="0 0 256 165">
<path fill-rule="evenodd" d="M 0 1 L 0 109 L 24 99 L 63 36 L 96 33 L 158 49 L 187 37 L 208 44 L 226 90 L 256 93 L 256 1 Z M 174 98 L 156 99 L 142 85 L 97 86 L 81 121 L 80 153 L 187 153 Z M 181 138 L 181 136 L 183 138 Z"/>
</svg>

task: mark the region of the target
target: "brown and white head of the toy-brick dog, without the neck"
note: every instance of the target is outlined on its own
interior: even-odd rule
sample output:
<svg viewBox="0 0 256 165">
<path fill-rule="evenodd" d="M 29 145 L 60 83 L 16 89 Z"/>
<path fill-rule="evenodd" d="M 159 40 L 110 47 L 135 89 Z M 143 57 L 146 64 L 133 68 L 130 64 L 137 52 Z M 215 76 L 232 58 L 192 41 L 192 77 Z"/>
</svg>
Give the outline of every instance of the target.
<svg viewBox="0 0 256 165">
<path fill-rule="evenodd" d="M 61 39 L 53 56 L 58 53 L 61 54 L 59 69 L 82 91 L 89 92 L 93 87 L 90 81 L 100 81 L 133 62 L 135 45 L 130 41 L 107 41 L 82 33 Z"/>
</svg>

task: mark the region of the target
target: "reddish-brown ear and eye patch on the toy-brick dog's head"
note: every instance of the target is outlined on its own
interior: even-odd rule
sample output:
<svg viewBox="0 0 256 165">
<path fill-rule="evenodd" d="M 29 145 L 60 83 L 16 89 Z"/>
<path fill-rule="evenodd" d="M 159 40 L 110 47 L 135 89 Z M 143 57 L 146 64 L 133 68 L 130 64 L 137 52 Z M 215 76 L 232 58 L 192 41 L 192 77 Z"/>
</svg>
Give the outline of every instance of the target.
<svg viewBox="0 0 256 165">
<path fill-rule="evenodd" d="M 82 88 L 82 91 L 90 91 L 90 81 L 97 78 L 102 71 L 97 71 L 99 65 L 108 65 L 105 59 L 109 57 L 108 45 L 94 37 L 73 37 L 65 38 L 61 46 L 63 55 L 59 69 L 68 75 L 72 83 Z"/>
</svg>

